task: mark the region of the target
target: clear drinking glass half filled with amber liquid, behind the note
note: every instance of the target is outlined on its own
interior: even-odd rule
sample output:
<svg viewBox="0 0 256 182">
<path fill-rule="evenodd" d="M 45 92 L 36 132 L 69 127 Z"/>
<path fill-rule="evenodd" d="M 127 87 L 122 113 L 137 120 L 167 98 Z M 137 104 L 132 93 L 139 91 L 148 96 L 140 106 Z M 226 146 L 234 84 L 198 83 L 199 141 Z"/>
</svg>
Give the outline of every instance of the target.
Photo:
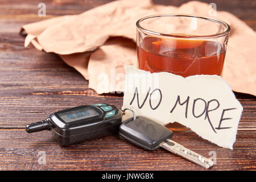
<svg viewBox="0 0 256 182">
<path fill-rule="evenodd" d="M 192 75 L 222 75 L 230 27 L 222 20 L 162 14 L 137 21 L 138 69 Z M 175 121 L 173 131 L 188 131 Z"/>
</svg>

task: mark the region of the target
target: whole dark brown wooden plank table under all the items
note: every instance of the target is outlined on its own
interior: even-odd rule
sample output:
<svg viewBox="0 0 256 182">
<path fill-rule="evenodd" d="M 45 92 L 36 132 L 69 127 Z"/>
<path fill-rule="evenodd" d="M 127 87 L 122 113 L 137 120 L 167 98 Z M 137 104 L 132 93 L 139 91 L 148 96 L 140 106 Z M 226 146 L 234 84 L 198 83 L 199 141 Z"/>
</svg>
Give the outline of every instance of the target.
<svg viewBox="0 0 256 182">
<path fill-rule="evenodd" d="M 201 170 L 203 168 L 165 150 L 148 152 L 116 136 L 59 146 L 48 131 L 27 134 L 24 126 L 40 121 L 57 110 L 106 102 L 122 106 L 118 94 L 98 95 L 88 88 L 75 69 L 53 53 L 24 48 L 19 35 L 23 24 L 45 18 L 37 15 L 41 1 L 0 2 L 0 169 L 1 170 Z M 79 14 L 109 1 L 46 1 L 47 16 Z M 187 1 L 156 1 L 179 6 Z M 214 2 L 214 1 L 205 1 Z M 218 1 L 217 9 L 226 10 L 245 20 L 256 30 L 256 3 Z M 254 58 L 255 59 L 255 58 Z M 221 148 L 195 133 L 175 133 L 174 140 L 201 155 L 216 152 L 217 165 L 210 170 L 256 169 L 256 100 L 237 94 L 243 105 L 234 150 Z M 42 157 L 46 156 L 46 163 Z M 212 154 L 212 153 L 210 153 Z"/>
</svg>

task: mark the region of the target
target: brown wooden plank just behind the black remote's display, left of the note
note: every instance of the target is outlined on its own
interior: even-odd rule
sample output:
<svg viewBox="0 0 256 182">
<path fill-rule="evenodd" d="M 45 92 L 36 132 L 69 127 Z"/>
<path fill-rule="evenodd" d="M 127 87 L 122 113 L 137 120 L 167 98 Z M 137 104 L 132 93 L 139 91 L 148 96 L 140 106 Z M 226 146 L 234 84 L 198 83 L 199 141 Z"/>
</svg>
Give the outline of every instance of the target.
<svg viewBox="0 0 256 182">
<path fill-rule="evenodd" d="M 60 86 L 61 88 L 61 86 Z M 85 104 L 94 103 L 109 103 L 117 105 L 121 108 L 122 97 L 118 96 L 94 96 L 96 93 L 91 90 L 67 90 L 64 92 L 33 92 L 36 94 L 29 93 L 27 96 L 15 96 L 11 94 L 10 96 L 1 97 L 0 105 L 2 109 L 0 110 L 0 128 L 23 128 L 25 125 L 41 121 L 49 116 L 49 114 L 67 109 L 69 107 L 75 107 Z M 64 94 L 63 94 L 64 93 Z M 82 93 L 82 94 L 80 94 Z M 92 96 L 89 96 L 92 94 Z M 241 102 L 243 102 L 241 100 Z M 255 104 L 255 101 L 251 101 L 251 104 Z M 256 123 L 255 120 L 255 107 L 246 107 L 243 104 L 243 114 L 238 125 L 240 130 L 255 130 Z M 255 132 L 254 131 L 254 132 Z"/>
</svg>

